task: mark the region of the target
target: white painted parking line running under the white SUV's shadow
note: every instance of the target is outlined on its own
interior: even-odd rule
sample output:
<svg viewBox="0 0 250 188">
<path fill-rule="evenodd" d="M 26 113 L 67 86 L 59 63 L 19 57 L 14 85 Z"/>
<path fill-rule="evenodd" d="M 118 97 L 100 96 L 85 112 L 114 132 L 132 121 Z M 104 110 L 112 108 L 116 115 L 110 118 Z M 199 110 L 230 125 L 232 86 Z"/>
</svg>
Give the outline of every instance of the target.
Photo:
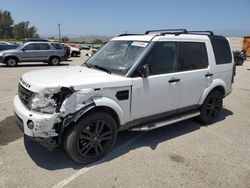
<svg viewBox="0 0 250 188">
<path fill-rule="evenodd" d="M 114 155 L 116 153 L 118 153 L 119 151 L 121 151 L 123 148 L 126 148 L 127 146 L 129 146 L 130 144 L 132 144 L 133 142 L 135 142 L 136 140 L 138 140 L 139 138 L 141 138 L 143 136 L 143 133 L 134 137 L 133 139 L 129 140 L 128 142 L 126 142 L 125 144 L 123 144 L 121 147 L 119 147 L 117 150 L 114 151 Z M 98 165 L 99 163 L 101 163 L 102 161 L 105 161 L 105 159 L 97 162 L 96 165 Z M 93 164 L 95 165 L 95 164 Z M 76 173 L 72 174 L 71 176 L 69 176 L 68 178 L 64 179 L 63 181 L 59 182 L 58 184 L 54 185 L 53 188 L 62 188 L 65 185 L 69 184 L 71 181 L 73 181 L 74 179 L 78 178 L 79 176 L 83 175 L 84 173 L 88 172 L 90 169 L 96 167 L 95 166 L 91 166 L 91 167 L 84 167 L 83 169 L 77 171 Z"/>
</svg>

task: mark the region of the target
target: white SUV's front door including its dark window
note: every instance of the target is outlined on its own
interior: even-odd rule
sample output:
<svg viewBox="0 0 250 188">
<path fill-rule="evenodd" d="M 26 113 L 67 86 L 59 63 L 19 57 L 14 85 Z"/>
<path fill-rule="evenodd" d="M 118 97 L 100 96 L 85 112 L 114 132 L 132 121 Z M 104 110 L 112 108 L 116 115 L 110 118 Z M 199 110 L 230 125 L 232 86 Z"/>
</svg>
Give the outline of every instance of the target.
<svg viewBox="0 0 250 188">
<path fill-rule="evenodd" d="M 180 73 L 174 72 L 176 61 L 177 43 L 155 42 L 142 62 L 149 65 L 150 76 L 133 78 L 131 120 L 164 115 L 178 108 L 181 88 Z"/>
</svg>

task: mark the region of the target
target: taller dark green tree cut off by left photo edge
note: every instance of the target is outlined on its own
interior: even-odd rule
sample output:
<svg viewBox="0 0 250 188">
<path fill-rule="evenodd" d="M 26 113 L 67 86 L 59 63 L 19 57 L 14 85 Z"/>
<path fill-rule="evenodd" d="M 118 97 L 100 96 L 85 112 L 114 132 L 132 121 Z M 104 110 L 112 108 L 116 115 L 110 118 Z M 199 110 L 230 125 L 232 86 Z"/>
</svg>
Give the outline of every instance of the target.
<svg viewBox="0 0 250 188">
<path fill-rule="evenodd" d="M 12 38 L 13 23 L 11 13 L 0 10 L 0 38 Z"/>
</svg>

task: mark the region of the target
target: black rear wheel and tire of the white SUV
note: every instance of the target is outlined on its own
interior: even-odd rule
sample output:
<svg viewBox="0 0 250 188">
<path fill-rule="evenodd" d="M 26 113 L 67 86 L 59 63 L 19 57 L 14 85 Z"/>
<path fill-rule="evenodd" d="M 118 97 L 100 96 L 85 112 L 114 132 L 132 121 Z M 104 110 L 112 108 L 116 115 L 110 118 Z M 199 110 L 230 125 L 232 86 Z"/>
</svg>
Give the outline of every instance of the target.
<svg viewBox="0 0 250 188">
<path fill-rule="evenodd" d="M 201 105 L 198 119 L 205 124 L 214 123 L 219 117 L 222 104 L 222 93 L 218 90 L 212 91 Z"/>
</svg>

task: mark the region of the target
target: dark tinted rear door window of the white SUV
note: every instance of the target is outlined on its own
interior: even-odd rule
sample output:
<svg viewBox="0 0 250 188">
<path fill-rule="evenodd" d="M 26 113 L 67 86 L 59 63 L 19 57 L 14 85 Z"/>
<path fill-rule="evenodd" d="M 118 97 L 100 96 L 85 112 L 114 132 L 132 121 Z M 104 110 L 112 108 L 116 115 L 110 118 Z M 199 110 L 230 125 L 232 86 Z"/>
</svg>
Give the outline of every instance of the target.
<svg viewBox="0 0 250 188">
<path fill-rule="evenodd" d="M 178 48 L 177 71 L 203 69 L 208 66 L 205 43 L 180 42 Z"/>
</svg>

